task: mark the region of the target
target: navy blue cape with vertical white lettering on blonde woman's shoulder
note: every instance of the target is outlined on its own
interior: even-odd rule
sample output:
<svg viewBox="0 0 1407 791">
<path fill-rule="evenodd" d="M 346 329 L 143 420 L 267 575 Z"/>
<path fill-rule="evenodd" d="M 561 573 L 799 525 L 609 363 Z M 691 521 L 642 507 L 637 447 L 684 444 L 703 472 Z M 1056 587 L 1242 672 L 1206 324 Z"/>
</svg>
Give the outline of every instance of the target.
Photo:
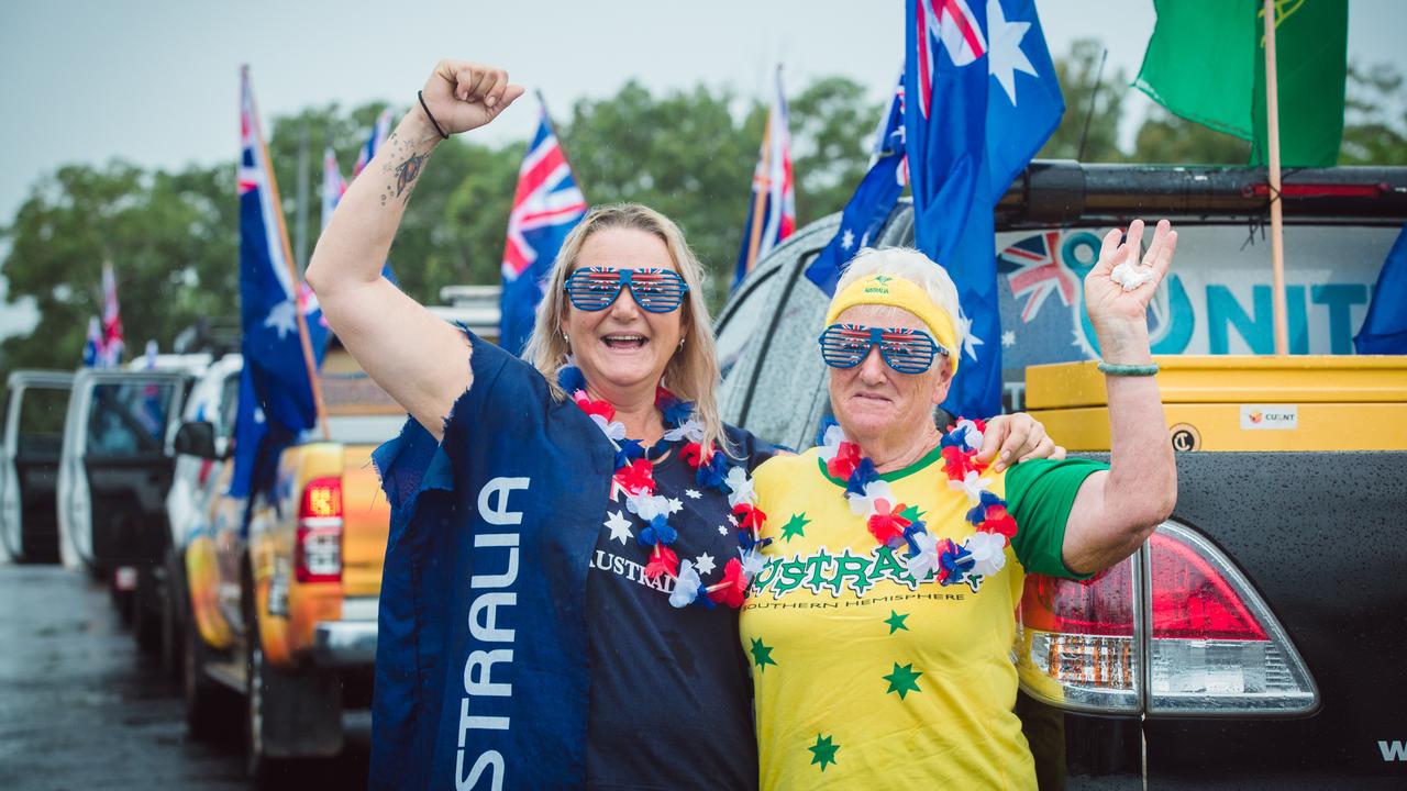
<svg viewBox="0 0 1407 791">
<path fill-rule="evenodd" d="M 584 787 L 587 570 L 615 455 L 533 367 L 469 338 L 443 442 L 411 419 L 373 456 L 391 529 L 371 787 Z"/>
</svg>

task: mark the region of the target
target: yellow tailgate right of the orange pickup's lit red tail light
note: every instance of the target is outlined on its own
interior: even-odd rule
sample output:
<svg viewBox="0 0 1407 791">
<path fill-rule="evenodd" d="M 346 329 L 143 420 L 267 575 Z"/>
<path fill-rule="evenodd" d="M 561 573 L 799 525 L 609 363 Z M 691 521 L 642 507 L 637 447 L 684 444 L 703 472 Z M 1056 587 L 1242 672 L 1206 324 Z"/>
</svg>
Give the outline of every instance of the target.
<svg viewBox="0 0 1407 791">
<path fill-rule="evenodd" d="M 342 588 L 346 597 L 381 593 L 381 560 L 391 507 L 371 466 L 373 445 L 346 445 L 342 466 Z"/>
</svg>

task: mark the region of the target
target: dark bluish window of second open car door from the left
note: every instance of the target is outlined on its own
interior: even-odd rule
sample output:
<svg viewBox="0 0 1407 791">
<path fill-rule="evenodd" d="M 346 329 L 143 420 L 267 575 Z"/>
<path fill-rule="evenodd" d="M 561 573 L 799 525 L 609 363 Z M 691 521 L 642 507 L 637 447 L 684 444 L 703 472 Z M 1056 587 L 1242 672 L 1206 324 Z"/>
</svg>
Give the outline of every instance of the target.
<svg viewBox="0 0 1407 791">
<path fill-rule="evenodd" d="M 93 386 L 87 455 L 103 459 L 160 456 L 177 381 Z"/>
</svg>

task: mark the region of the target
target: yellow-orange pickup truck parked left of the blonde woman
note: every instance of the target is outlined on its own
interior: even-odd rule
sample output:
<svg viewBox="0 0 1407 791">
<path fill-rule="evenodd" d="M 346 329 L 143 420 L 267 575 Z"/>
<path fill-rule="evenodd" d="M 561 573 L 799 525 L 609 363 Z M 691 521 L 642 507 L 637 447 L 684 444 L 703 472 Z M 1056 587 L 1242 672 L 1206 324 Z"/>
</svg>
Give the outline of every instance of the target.
<svg viewBox="0 0 1407 791">
<path fill-rule="evenodd" d="M 404 411 L 340 346 L 319 380 L 328 438 L 312 431 L 279 459 L 269 494 L 228 494 L 239 359 L 197 384 L 177 452 L 190 483 L 173 487 L 182 580 L 177 632 L 187 725 L 197 738 L 246 736 L 265 781 L 288 759 L 340 752 L 343 709 L 367 708 L 390 507 L 371 450 Z M 184 469 L 184 467 L 183 467 Z M 204 477 L 200 477 L 200 476 Z M 242 697 L 232 709 L 228 690 Z"/>
</svg>

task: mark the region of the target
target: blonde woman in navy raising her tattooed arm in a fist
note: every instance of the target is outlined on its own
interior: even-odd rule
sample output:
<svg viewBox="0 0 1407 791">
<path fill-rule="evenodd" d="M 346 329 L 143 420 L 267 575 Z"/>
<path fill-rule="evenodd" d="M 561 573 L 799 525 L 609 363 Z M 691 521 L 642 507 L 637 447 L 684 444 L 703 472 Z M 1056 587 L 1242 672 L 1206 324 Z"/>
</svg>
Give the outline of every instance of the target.
<svg viewBox="0 0 1407 791">
<path fill-rule="evenodd" d="M 412 417 L 376 456 L 393 517 L 371 785 L 750 788 L 739 550 L 770 448 L 719 419 L 678 227 L 594 208 L 525 360 L 380 276 L 435 145 L 519 96 L 502 70 L 440 62 L 308 267 L 332 329 Z M 1003 425 L 989 456 L 1054 450 L 1029 418 Z"/>
</svg>

